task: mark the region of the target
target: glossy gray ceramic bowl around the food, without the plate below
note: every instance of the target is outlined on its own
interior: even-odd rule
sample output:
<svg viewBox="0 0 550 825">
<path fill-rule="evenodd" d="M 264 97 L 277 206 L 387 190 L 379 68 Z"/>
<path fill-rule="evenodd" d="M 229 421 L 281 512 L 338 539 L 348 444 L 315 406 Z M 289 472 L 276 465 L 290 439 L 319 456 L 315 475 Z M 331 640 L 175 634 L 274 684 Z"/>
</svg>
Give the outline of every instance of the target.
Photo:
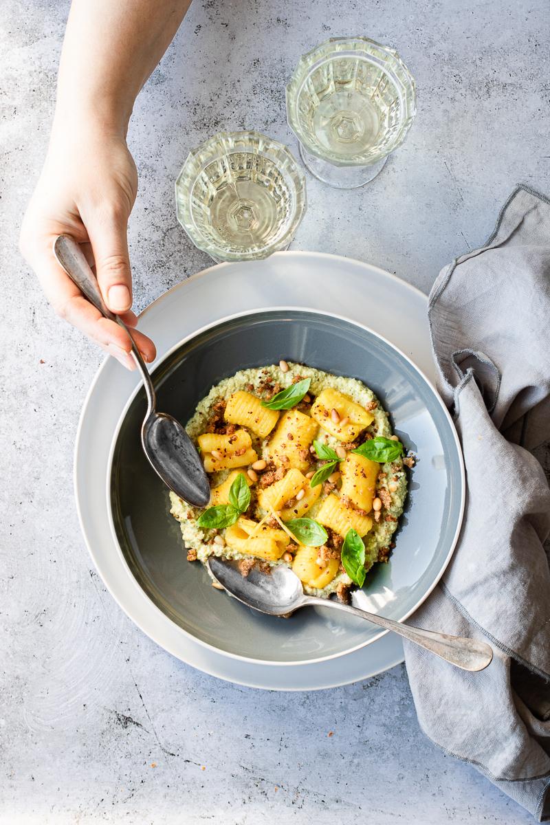
<svg viewBox="0 0 550 825">
<path fill-rule="evenodd" d="M 400 351 L 346 318 L 307 309 L 272 309 L 227 318 L 182 342 L 153 372 L 158 409 L 182 422 L 213 384 L 237 370 L 281 358 L 358 378 L 390 413 L 418 456 L 396 549 L 369 573 L 355 603 L 403 620 L 435 587 L 449 562 L 463 514 L 464 477 L 453 424 L 430 382 Z M 200 643 L 228 656 L 270 663 L 313 662 L 377 639 L 368 622 L 308 608 L 288 620 L 248 609 L 211 587 L 189 563 L 167 488 L 139 439 L 139 390 L 115 434 L 109 469 L 112 529 L 130 572 L 159 610 Z"/>
</svg>

